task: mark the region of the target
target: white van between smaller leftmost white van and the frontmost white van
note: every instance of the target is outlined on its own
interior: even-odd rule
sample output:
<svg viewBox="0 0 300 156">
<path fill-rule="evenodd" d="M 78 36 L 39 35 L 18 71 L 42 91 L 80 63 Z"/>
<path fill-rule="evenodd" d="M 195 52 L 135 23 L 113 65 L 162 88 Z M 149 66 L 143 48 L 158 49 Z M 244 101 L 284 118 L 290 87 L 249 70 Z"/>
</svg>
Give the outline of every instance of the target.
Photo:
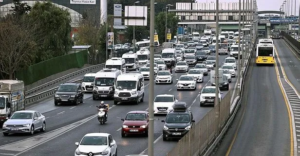
<svg viewBox="0 0 300 156">
<path fill-rule="evenodd" d="M 122 72 L 116 68 L 105 68 L 98 71 L 95 75 L 93 100 L 113 97 L 114 85 L 117 77 Z"/>
</svg>

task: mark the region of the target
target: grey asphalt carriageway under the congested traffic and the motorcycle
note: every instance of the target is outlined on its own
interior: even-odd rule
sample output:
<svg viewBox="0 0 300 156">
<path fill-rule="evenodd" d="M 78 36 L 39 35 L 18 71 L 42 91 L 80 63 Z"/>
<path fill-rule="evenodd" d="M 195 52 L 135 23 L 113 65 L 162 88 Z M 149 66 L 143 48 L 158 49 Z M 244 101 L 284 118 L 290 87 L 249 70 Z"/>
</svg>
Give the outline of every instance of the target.
<svg viewBox="0 0 300 156">
<path fill-rule="evenodd" d="M 220 56 L 219 64 L 221 65 L 225 59 L 225 55 Z M 174 80 L 185 73 L 175 73 Z M 209 81 L 209 74 L 205 76 L 204 83 L 198 83 L 196 91 L 177 91 L 176 81 L 171 85 L 155 85 L 154 94 L 173 94 L 179 101 L 186 102 L 191 106 L 194 118 L 198 122 L 211 107 L 200 107 L 198 92 Z M 148 81 L 145 85 L 148 86 Z M 234 89 L 236 78 L 232 78 L 230 90 Z M 208 84 L 210 85 L 210 84 Z M 228 91 L 223 91 L 225 96 Z M 106 132 L 112 134 L 112 137 L 117 142 L 118 155 L 125 156 L 129 154 L 139 154 L 143 151 L 147 154 L 148 138 L 145 137 L 127 137 L 121 138 L 120 127 L 122 125 L 121 118 L 124 118 L 126 113 L 132 110 L 148 110 L 148 87 L 145 88 L 145 101 L 138 105 L 118 104 L 113 105 L 112 100 L 105 100 L 110 104 L 111 109 L 108 113 L 108 122 L 100 125 L 95 115 L 97 113 L 95 106 L 100 101 L 93 101 L 91 94 L 85 94 L 84 104 L 77 106 L 73 105 L 58 105 L 54 106 L 53 100 L 48 99 L 39 104 L 33 105 L 27 109 L 38 110 L 47 117 L 46 133 L 37 133 L 34 136 L 26 135 L 10 135 L 4 137 L 0 135 L 0 156 L 1 154 L 19 154 L 20 156 L 56 156 L 74 154 L 76 149 L 75 142 L 87 133 Z M 154 154 L 155 156 L 166 156 L 172 150 L 177 141 L 163 141 L 161 139 L 163 123 L 161 120 L 165 116 L 155 116 L 154 121 Z M 3 155 L 7 156 L 7 155 Z"/>
</svg>

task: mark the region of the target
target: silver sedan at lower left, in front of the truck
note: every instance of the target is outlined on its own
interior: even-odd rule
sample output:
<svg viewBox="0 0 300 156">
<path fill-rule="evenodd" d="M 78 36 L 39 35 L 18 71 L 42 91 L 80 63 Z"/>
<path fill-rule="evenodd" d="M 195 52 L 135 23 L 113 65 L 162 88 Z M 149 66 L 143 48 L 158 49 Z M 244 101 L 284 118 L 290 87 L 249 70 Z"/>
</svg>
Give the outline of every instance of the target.
<svg viewBox="0 0 300 156">
<path fill-rule="evenodd" d="M 9 133 L 28 133 L 29 135 L 34 135 L 37 130 L 45 132 L 46 119 L 38 111 L 16 111 L 3 123 L 2 130 L 4 136 L 8 136 Z"/>
</svg>

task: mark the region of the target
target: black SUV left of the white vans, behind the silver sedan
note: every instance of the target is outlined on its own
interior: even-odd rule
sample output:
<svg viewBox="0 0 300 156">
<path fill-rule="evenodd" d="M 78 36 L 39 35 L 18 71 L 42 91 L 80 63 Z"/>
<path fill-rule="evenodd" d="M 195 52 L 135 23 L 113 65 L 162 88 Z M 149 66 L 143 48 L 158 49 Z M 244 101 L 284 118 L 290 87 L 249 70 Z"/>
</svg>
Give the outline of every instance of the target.
<svg viewBox="0 0 300 156">
<path fill-rule="evenodd" d="M 83 91 L 81 84 L 63 83 L 55 90 L 54 104 L 72 103 L 77 105 L 83 103 Z"/>
</svg>

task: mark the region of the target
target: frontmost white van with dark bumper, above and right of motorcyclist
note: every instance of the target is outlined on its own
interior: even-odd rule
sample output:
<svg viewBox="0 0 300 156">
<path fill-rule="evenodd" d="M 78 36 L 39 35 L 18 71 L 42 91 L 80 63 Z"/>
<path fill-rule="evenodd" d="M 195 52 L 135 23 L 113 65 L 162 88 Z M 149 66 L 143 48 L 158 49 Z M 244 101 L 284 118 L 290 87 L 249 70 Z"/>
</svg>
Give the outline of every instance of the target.
<svg viewBox="0 0 300 156">
<path fill-rule="evenodd" d="M 144 102 L 144 75 L 140 73 L 126 73 L 119 75 L 116 80 L 113 104 L 118 102 Z"/>
</svg>

